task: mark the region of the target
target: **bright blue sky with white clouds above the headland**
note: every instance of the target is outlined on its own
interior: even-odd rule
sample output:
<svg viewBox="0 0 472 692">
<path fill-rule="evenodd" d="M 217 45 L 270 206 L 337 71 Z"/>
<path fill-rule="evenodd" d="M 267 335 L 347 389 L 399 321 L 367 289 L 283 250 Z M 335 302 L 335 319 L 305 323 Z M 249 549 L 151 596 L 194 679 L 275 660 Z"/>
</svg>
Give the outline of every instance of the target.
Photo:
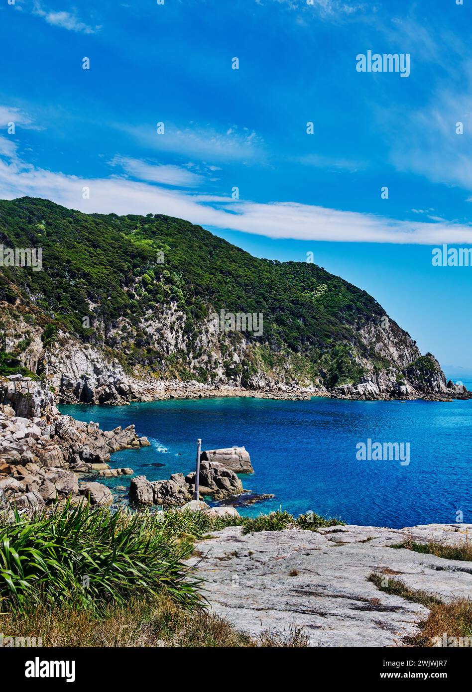
<svg viewBox="0 0 472 692">
<path fill-rule="evenodd" d="M 431 265 L 472 244 L 471 20 L 472 0 L 4 0 L 0 197 L 313 252 L 472 372 L 472 267 Z M 369 50 L 409 77 L 356 71 Z"/>
</svg>

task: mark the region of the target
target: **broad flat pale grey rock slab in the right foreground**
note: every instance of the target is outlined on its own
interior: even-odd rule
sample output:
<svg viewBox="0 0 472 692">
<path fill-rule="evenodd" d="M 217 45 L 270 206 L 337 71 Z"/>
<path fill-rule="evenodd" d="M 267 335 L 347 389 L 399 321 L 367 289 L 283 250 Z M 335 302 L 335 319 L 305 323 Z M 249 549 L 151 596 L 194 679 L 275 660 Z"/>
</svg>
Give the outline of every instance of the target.
<svg viewBox="0 0 472 692">
<path fill-rule="evenodd" d="M 372 572 L 401 579 L 442 599 L 472 597 L 472 563 L 387 547 L 407 536 L 453 545 L 472 525 L 411 529 L 330 527 L 259 531 L 228 527 L 197 543 L 212 612 L 252 637 L 302 627 L 310 646 L 405 646 L 419 635 L 428 609 L 379 591 Z M 460 536 L 460 538 L 458 538 Z"/>
</svg>

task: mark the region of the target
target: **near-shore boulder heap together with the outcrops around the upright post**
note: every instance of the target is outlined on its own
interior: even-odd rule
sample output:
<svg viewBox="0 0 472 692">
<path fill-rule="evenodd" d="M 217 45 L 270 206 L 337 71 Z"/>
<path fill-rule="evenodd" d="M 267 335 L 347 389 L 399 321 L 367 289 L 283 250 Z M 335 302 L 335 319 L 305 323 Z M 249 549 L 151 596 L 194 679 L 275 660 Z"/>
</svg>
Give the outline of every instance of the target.
<svg viewBox="0 0 472 692">
<path fill-rule="evenodd" d="M 149 441 L 136 435 L 134 425 L 103 431 L 92 421 L 62 415 L 53 394 L 30 378 L 11 376 L 0 382 L 0 509 L 33 514 L 66 501 L 114 504 L 113 493 L 96 477 L 133 475 L 132 468 L 110 468 L 110 455 L 143 446 Z M 203 450 L 201 497 L 215 502 L 233 498 L 235 504 L 239 495 L 244 503 L 267 497 L 245 490 L 237 473 L 253 473 L 244 447 Z M 136 506 L 182 507 L 192 502 L 194 490 L 194 471 L 157 481 L 137 476 L 131 479 L 128 498 Z M 218 511 L 237 514 L 234 507 Z"/>
</svg>

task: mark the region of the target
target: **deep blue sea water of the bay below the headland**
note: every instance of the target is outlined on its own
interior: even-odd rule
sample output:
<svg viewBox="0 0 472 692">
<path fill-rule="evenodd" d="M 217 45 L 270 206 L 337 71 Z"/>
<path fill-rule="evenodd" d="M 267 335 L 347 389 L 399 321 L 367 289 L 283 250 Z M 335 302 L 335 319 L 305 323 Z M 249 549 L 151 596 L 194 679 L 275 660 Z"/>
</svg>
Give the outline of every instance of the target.
<svg viewBox="0 0 472 692">
<path fill-rule="evenodd" d="M 465 381 L 464 381 L 465 383 Z M 242 514 L 278 507 L 339 516 L 350 524 L 394 528 L 455 522 L 457 511 L 472 523 L 472 400 L 272 401 L 188 399 L 130 406 L 60 406 L 102 429 L 136 425 L 152 446 L 112 456 L 112 466 L 131 466 L 149 480 L 194 469 L 197 437 L 202 449 L 245 446 L 255 474 L 245 488 L 274 493 Z M 356 444 L 409 442 L 410 463 L 359 461 Z M 129 487 L 130 476 L 105 480 Z"/>
</svg>

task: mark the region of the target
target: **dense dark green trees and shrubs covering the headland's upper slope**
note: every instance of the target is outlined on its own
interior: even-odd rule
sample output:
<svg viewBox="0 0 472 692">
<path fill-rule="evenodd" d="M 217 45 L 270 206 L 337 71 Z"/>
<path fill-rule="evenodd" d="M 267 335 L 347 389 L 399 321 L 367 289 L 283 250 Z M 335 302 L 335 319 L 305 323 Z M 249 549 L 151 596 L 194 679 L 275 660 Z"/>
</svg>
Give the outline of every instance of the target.
<svg viewBox="0 0 472 692">
<path fill-rule="evenodd" d="M 0 244 L 42 248 L 44 271 L 0 267 L 0 300 L 21 298 L 46 327 L 45 346 L 62 329 L 111 349 L 127 367 L 144 365 L 156 374 L 207 381 L 211 372 L 208 366 L 190 373 L 188 352 L 165 354 L 143 329 L 141 320 L 170 301 L 185 314 L 194 357 L 198 325 L 213 309 L 263 313 L 264 334 L 249 337 L 251 357 L 239 365 L 228 358 L 228 372 L 239 368 L 251 376 L 289 354 L 296 372 L 321 375 L 330 386 L 358 381 L 363 370 L 353 349 L 370 354 L 356 331 L 385 315 L 365 291 L 316 264 L 260 260 L 200 226 L 163 215 L 86 215 L 44 199 L 3 200 Z M 129 327 L 120 331 L 122 317 Z"/>
</svg>

